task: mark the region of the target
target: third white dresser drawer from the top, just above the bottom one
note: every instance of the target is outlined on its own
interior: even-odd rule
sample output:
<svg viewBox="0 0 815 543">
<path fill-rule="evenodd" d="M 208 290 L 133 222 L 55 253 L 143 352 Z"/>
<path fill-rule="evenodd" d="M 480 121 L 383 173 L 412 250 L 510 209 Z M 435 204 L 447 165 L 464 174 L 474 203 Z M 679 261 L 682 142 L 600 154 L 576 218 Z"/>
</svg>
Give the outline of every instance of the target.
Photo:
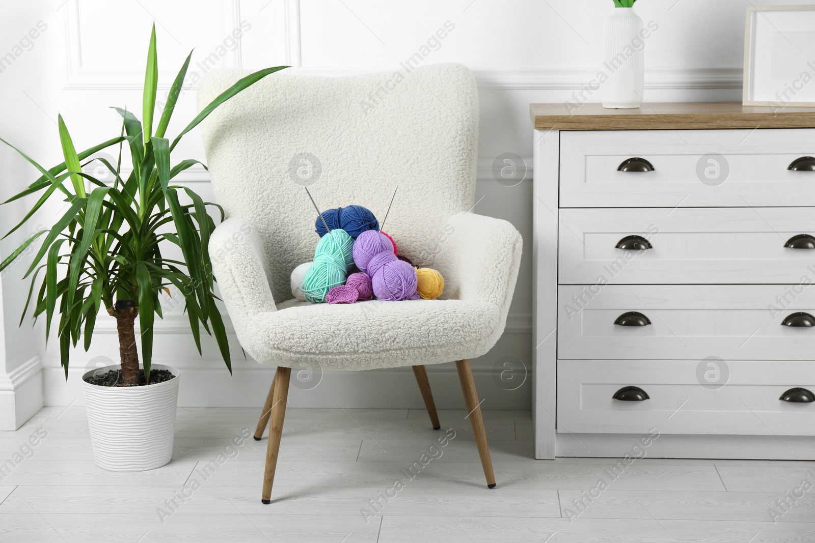
<svg viewBox="0 0 815 543">
<path fill-rule="evenodd" d="M 782 325 L 815 318 L 812 285 L 569 285 L 557 298 L 562 359 L 815 359 L 815 326 Z M 650 323 L 615 324 L 628 312 Z"/>
</svg>

